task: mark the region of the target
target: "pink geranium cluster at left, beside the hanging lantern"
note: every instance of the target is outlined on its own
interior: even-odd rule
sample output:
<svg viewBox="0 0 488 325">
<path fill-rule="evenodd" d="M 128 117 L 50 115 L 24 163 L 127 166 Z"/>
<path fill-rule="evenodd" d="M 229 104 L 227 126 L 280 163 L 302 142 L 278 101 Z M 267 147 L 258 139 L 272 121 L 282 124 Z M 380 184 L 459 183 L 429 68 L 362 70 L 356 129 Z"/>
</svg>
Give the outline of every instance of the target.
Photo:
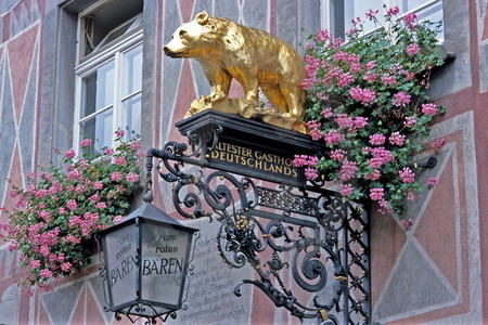
<svg viewBox="0 0 488 325">
<path fill-rule="evenodd" d="M 80 143 L 81 154 L 64 153 L 63 168 L 53 164 L 27 176 L 25 188 L 13 185 L 14 208 L 2 210 L 9 224 L 0 230 L 10 249 L 21 250 L 25 283 L 47 287 L 52 277 L 69 275 L 88 265 L 86 239 L 121 220 L 139 182 L 142 157 L 139 142 L 124 142 L 117 131 L 116 148 L 89 157 L 91 139 Z M 61 153 L 55 150 L 56 154 Z"/>
</svg>

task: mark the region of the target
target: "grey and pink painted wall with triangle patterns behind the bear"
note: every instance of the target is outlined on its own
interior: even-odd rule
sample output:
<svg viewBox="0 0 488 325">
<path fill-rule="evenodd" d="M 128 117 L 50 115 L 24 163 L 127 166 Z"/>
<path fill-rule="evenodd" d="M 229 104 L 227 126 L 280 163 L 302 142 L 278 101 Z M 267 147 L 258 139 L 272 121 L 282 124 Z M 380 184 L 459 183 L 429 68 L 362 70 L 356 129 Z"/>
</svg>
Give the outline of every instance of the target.
<svg viewBox="0 0 488 325">
<path fill-rule="evenodd" d="M 195 61 L 174 60 L 162 48 L 170 34 L 203 10 L 270 31 L 297 49 L 321 26 L 324 0 L 144 0 L 142 142 L 160 147 L 181 141 L 174 125 L 209 87 Z M 10 178 L 17 184 L 52 147 L 74 145 L 77 20 L 93 0 L 0 1 L 0 205 L 11 205 Z M 384 324 L 488 323 L 488 1 L 444 0 L 445 49 L 455 57 L 433 74 L 431 93 L 447 106 L 428 144 L 445 138 L 434 169 L 420 177 L 439 179 L 410 206 L 414 220 L 404 230 L 398 216 L 372 207 L 372 316 Z M 300 50 L 301 51 L 301 50 Z M 239 95 L 234 84 L 232 93 Z M 169 185 L 157 184 L 156 199 L 174 211 Z M 0 222 L 5 216 L 0 214 Z M 211 256 L 211 225 L 200 247 L 197 265 L 211 264 L 194 280 L 206 296 L 189 299 L 181 324 L 297 323 L 257 290 L 231 297 L 247 271 L 227 268 Z M 209 256 L 209 258 L 205 258 Z M 210 257 L 211 256 L 211 257 Z M 53 283 L 53 291 L 23 295 L 18 255 L 0 243 L 0 324 L 112 324 L 105 313 L 100 260 L 77 276 Z M 213 276 L 211 272 L 216 272 Z M 247 272 L 247 273 L 246 273 Z M 252 276 L 252 275 L 251 275 Z M 194 287 L 196 288 L 196 287 Z M 197 289 L 197 288 L 196 288 Z M 191 296 L 191 295 L 189 295 Z M 226 303 L 227 302 L 227 303 Z M 219 311 L 220 308 L 220 311 Z M 229 311 L 229 313 L 222 312 Z M 234 314 L 232 314 L 232 312 Z M 234 317 L 234 315 L 236 315 Z M 232 318 L 234 317 L 234 318 Z M 126 322 L 127 323 L 127 322 Z"/>
</svg>

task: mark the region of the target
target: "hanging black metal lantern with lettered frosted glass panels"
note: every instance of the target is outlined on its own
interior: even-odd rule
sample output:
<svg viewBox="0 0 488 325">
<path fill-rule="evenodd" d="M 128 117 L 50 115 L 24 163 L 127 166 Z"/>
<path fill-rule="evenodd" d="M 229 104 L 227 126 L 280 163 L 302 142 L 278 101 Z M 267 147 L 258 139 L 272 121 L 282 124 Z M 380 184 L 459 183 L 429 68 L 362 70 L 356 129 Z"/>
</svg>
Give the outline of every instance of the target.
<svg viewBox="0 0 488 325">
<path fill-rule="evenodd" d="M 144 203 L 101 232 L 108 309 L 118 318 L 125 314 L 155 323 L 181 309 L 195 231 Z"/>
</svg>

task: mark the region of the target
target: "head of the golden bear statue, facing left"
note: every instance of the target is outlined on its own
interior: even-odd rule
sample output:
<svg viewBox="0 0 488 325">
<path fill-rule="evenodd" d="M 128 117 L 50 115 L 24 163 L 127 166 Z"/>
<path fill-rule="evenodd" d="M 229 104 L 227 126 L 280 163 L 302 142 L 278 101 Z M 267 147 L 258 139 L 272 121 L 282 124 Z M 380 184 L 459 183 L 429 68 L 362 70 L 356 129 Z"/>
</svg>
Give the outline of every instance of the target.
<svg viewBox="0 0 488 325">
<path fill-rule="evenodd" d="M 165 54 L 170 57 L 197 57 L 211 49 L 209 34 L 215 29 L 209 22 L 208 13 L 198 13 L 193 21 L 178 27 L 171 41 L 164 47 Z"/>
</svg>

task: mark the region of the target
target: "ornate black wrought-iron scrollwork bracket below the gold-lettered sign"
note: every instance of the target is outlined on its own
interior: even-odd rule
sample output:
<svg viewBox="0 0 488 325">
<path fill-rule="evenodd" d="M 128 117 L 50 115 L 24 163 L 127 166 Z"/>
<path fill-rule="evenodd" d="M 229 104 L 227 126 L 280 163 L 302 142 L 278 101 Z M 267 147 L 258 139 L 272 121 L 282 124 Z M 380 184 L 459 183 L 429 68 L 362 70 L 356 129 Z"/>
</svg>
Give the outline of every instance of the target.
<svg viewBox="0 0 488 325">
<path fill-rule="evenodd" d="M 344 203 L 323 184 L 278 183 L 211 159 L 219 141 L 229 141 L 222 134 L 227 129 L 217 122 L 198 126 L 183 132 L 188 145 L 168 142 L 147 151 L 147 177 L 157 158 L 159 177 L 172 183 L 176 210 L 219 222 L 215 238 L 222 262 L 255 270 L 257 276 L 243 280 L 234 294 L 254 285 L 299 320 L 369 324 L 369 230 L 362 207 Z"/>
</svg>

